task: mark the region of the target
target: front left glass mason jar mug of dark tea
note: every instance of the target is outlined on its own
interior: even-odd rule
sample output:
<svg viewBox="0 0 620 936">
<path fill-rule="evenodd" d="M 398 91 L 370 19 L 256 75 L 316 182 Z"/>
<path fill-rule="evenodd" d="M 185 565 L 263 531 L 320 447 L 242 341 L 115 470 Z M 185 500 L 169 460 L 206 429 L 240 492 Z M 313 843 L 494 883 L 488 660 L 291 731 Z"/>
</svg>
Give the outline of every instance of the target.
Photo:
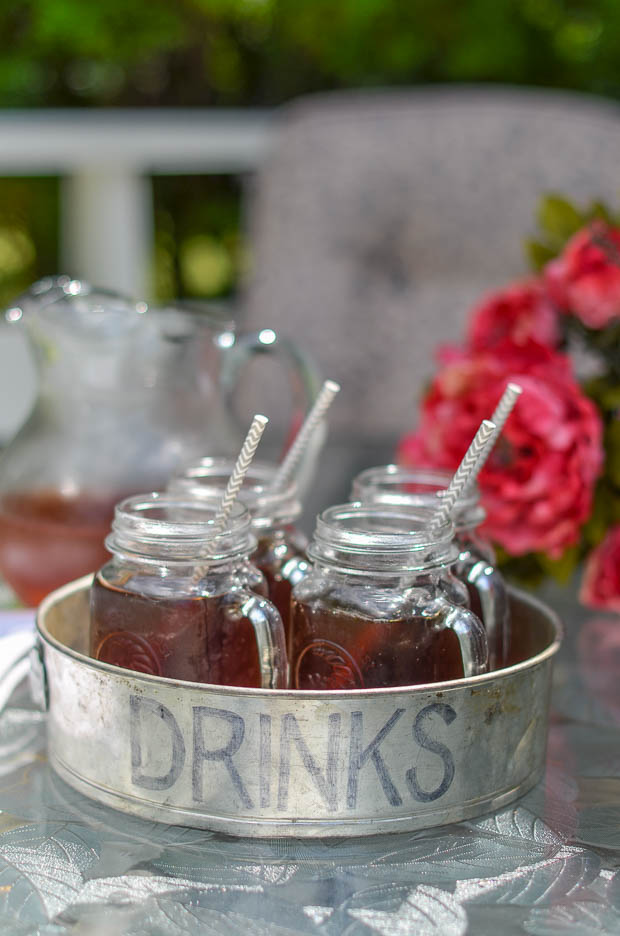
<svg viewBox="0 0 620 936">
<path fill-rule="evenodd" d="M 249 560 L 250 516 L 235 504 L 218 533 L 218 506 L 158 493 L 117 505 L 112 558 L 91 589 L 92 657 L 190 682 L 286 686 L 282 619 Z"/>
</svg>

